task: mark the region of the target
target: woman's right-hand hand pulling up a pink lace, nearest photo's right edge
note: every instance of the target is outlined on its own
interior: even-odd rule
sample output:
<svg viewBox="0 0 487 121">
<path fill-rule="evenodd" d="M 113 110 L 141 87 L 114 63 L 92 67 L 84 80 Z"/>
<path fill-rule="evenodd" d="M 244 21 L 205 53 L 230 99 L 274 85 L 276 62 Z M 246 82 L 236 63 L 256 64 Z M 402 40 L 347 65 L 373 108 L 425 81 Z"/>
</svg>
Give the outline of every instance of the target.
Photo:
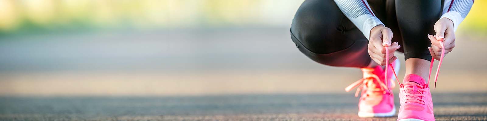
<svg viewBox="0 0 487 121">
<path fill-rule="evenodd" d="M 440 41 L 442 41 L 445 46 L 445 55 L 451 52 L 453 47 L 455 47 L 453 22 L 448 18 L 441 18 L 434 24 L 434 31 L 436 31 L 436 35 L 433 36 L 428 34 L 428 38 L 430 38 L 431 41 L 431 47 L 428 47 L 428 49 L 434 59 L 440 60 L 442 51 Z"/>
</svg>

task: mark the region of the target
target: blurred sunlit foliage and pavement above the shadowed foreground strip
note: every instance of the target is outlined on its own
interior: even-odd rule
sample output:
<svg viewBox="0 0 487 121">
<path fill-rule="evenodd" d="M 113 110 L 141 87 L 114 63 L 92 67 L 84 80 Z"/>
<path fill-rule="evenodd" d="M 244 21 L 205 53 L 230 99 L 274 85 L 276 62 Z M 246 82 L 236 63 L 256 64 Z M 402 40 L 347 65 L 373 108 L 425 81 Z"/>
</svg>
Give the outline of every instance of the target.
<svg viewBox="0 0 487 121">
<path fill-rule="evenodd" d="M 0 0 L 0 95 L 343 93 L 360 71 L 290 39 L 302 1 Z M 433 92 L 487 91 L 485 12 L 476 0 Z"/>
</svg>

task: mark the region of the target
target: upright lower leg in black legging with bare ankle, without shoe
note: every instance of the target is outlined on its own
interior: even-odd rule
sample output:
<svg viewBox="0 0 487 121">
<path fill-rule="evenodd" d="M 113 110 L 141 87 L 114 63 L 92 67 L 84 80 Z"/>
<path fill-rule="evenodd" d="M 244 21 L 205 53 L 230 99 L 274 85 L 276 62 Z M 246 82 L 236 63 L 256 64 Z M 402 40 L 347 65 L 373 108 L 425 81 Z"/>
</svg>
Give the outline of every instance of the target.
<svg viewBox="0 0 487 121">
<path fill-rule="evenodd" d="M 433 26 L 441 14 L 440 0 L 396 0 L 396 15 L 404 41 L 406 75 L 428 78 L 431 42 L 426 36 L 434 34 Z"/>
</svg>

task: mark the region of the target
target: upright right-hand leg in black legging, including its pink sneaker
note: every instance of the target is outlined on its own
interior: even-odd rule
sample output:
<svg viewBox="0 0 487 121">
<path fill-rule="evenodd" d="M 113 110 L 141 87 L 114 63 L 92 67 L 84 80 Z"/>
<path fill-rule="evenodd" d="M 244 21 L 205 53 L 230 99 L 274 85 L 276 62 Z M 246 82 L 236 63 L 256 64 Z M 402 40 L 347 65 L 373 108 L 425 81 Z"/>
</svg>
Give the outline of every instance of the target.
<svg viewBox="0 0 487 121">
<path fill-rule="evenodd" d="M 397 121 L 434 121 L 429 77 L 431 46 L 427 34 L 441 14 L 440 0 L 396 0 L 396 15 L 404 42 L 406 76 L 399 88 Z M 411 96 L 414 95 L 414 96 Z"/>
</svg>

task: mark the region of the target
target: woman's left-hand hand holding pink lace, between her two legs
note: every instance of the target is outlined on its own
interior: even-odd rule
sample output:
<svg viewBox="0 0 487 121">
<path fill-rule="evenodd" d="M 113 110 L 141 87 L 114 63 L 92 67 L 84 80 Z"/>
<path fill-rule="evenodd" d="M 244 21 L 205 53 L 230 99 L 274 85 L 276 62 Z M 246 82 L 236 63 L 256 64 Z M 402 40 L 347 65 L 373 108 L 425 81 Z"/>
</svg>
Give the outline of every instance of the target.
<svg viewBox="0 0 487 121">
<path fill-rule="evenodd" d="M 386 65 L 386 50 L 384 46 L 389 46 L 389 61 L 392 62 L 397 59 L 394 56 L 394 51 L 399 49 L 401 45 L 397 45 L 395 42 L 391 44 L 393 39 L 393 31 L 384 25 L 377 25 L 370 30 L 370 40 L 367 48 L 369 49 L 369 55 L 372 60 L 379 65 Z"/>
</svg>

